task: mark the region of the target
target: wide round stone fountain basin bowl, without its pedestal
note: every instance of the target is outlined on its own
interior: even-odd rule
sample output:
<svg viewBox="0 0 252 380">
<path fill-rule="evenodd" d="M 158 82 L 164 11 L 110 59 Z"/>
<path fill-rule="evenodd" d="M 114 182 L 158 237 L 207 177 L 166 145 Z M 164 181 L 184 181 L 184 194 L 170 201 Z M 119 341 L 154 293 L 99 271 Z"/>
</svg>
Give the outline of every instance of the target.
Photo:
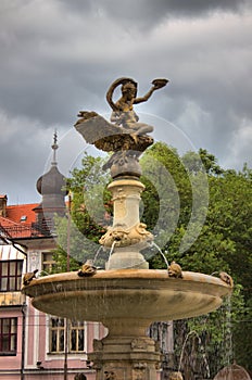
<svg viewBox="0 0 252 380">
<path fill-rule="evenodd" d="M 231 287 L 219 278 L 184 271 L 171 278 L 167 270 L 99 270 L 92 277 L 76 271 L 33 280 L 23 288 L 41 312 L 78 320 L 148 324 L 194 317 L 216 309 Z M 121 330 L 121 329 L 119 329 Z"/>
</svg>

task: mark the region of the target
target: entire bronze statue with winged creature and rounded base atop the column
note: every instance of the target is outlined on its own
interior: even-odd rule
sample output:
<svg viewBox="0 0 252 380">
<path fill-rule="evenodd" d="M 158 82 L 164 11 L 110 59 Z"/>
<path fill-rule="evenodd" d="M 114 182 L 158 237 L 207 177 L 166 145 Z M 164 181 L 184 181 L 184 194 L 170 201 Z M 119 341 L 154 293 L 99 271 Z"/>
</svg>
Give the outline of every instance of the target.
<svg viewBox="0 0 252 380">
<path fill-rule="evenodd" d="M 80 117 L 75 128 L 83 135 L 86 142 L 94 144 L 104 152 L 113 152 L 103 169 L 111 168 L 113 178 L 134 173 L 140 177 L 141 170 L 138 159 L 144 150 L 153 143 L 147 134 L 153 127 L 139 123 L 134 105 L 146 102 L 152 93 L 166 86 L 167 79 L 154 79 L 151 89 L 143 96 L 137 97 L 137 83 L 131 78 L 116 79 L 106 92 L 106 100 L 112 107 L 111 123 L 93 111 L 79 111 Z M 114 102 L 113 93 L 122 86 L 122 97 Z"/>
</svg>

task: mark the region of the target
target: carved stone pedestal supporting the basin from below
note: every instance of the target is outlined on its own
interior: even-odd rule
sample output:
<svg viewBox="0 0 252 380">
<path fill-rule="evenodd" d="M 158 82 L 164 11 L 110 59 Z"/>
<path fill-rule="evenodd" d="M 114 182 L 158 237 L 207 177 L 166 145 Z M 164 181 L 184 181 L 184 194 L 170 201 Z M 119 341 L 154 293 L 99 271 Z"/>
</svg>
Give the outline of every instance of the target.
<svg viewBox="0 0 252 380">
<path fill-rule="evenodd" d="M 158 344 L 146 335 L 149 321 L 110 320 L 109 335 L 93 341 L 89 359 L 97 380 L 155 380 L 161 354 Z"/>
</svg>

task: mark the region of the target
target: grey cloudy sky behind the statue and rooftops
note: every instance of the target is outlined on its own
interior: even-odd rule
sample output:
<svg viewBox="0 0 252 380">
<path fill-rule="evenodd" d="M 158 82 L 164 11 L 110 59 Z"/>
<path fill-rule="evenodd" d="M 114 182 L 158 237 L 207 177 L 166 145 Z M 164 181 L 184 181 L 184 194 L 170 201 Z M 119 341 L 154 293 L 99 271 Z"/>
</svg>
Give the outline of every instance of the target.
<svg viewBox="0 0 252 380">
<path fill-rule="evenodd" d="M 109 115 L 122 76 L 139 96 L 169 79 L 136 110 L 156 139 L 252 167 L 251 36 L 250 0 L 0 0 L 0 193 L 40 200 L 55 128 L 68 175 L 91 152 L 73 128 L 78 111 Z"/>
</svg>

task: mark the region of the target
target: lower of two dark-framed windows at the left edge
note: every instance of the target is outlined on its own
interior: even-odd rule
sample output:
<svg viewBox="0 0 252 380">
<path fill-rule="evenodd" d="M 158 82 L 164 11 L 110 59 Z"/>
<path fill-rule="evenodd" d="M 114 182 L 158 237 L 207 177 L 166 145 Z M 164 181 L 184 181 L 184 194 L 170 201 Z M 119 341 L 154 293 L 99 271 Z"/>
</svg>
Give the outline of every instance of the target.
<svg viewBox="0 0 252 380">
<path fill-rule="evenodd" d="M 16 355 L 17 318 L 0 318 L 0 355 Z"/>
</svg>

